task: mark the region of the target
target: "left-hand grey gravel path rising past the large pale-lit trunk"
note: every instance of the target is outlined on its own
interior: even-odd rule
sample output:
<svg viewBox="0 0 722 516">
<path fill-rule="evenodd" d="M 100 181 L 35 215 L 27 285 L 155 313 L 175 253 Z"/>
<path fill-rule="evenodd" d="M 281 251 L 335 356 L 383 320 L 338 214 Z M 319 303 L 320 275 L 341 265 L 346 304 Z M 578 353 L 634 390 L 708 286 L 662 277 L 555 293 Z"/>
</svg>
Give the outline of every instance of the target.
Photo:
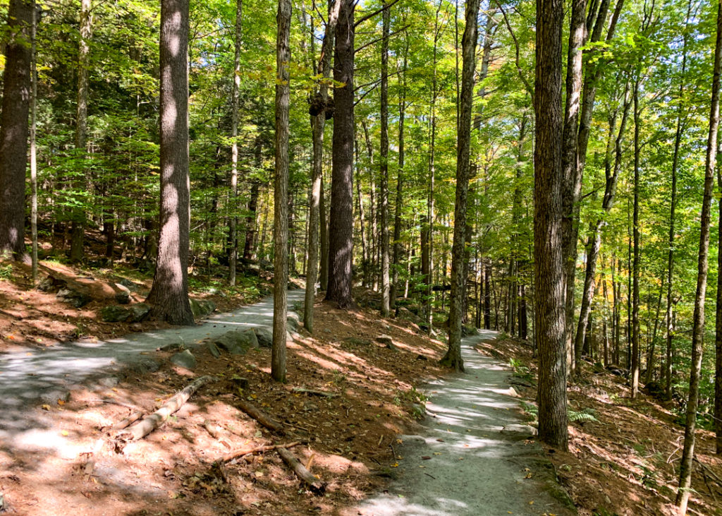
<svg viewBox="0 0 722 516">
<path fill-rule="evenodd" d="M 303 301 L 303 290 L 288 292 L 289 306 Z M 69 343 L 47 349 L 0 354 L 0 445 L 3 447 L 52 446 L 56 439 L 43 439 L 52 429 L 47 413 L 37 406 L 56 405 L 58 399 L 89 379 L 114 381 L 118 369 L 130 366 L 139 372 L 155 370 L 149 352 L 170 343 L 191 345 L 205 337 L 217 337 L 233 329 L 272 327 L 273 297 L 229 314 L 212 314 L 201 324 L 155 332 L 134 333 L 92 343 Z M 105 380 L 105 379 L 107 380 Z M 105 387 L 112 385 L 105 383 Z"/>
</svg>

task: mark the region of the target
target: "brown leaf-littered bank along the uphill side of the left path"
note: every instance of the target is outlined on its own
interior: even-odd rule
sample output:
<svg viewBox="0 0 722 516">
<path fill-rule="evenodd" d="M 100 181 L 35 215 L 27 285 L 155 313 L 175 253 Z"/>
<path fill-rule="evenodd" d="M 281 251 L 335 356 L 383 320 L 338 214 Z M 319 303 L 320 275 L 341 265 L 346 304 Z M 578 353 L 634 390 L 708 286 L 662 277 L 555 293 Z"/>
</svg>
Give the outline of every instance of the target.
<svg viewBox="0 0 722 516">
<path fill-rule="evenodd" d="M 48 275 L 82 280 L 88 288 L 102 287 L 127 280 L 135 285 L 130 302 L 144 301 L 152 284 L 152 274 L 143 274 L 118 263 L 110 268 L 85 268 L 54 260 L 41 260 L 38 284 Z M 191 296 L 213 301 L 219 311 L 228 311 L 253 303 L 270 292 L 269 280 L 263 276 L 239 275 L 238 285 L 220 288 L 222 278 L 191 276 Z M 81 308 L 61 301 L 57 289 L 43 292 L 32 285 L 29 265 L 0 260 L 0 353 L 25 348 L 50 348 L 72 340 L 103 340 L 129 332 L 143 332 L 168 327 L 162 322 L 103 322 L 100 310 L 116 304 L 112 296 L 97 296 Z M 111 291 L 112 292 L 112 291 Z"/>
</svg>

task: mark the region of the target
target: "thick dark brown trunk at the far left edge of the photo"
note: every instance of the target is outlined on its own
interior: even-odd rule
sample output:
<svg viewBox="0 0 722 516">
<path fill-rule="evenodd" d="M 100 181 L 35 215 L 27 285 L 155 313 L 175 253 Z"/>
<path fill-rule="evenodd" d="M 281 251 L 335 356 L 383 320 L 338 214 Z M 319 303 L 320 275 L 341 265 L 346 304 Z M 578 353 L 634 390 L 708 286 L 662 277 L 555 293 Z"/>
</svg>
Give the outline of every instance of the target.
<svg viewBox="0 0 722 516">
<path fill-rule="evenodd" d="M 0 257 L 25 258 L 25 167 L 35 0 L 10 0 L 0 121 Z"/>
</svg>

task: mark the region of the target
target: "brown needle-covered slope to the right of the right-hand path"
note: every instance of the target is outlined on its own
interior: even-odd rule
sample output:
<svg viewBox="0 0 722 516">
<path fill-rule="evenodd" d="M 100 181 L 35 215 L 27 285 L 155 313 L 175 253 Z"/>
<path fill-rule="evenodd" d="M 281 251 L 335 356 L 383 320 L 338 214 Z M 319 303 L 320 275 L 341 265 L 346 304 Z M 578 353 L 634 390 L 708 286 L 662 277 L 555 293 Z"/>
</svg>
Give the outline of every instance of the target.
<svg viewBox="0 0 722 516">
<path fill-rule="evenodd" d="M 478 348 L 510 362 L 513 382 L 531 384 L 515 388 L 536 397 L 537 361 L 529 345 L 504 338 Z M 546 450 L 580 515 L 676 515 L 684 429 L 671 405 L 642 393 L 630 399 L 626 380 L 608 371 L 586 369 L 567 392 L 570 413 L 590 413 L 596 421 L 570 423 L 568 452 Z M 714 450 L 713 434 L 697 431 L 695 457 L 703 466 L 695 464 L 690 515 L 722 514 L 722 460 Z"/>
</svg>

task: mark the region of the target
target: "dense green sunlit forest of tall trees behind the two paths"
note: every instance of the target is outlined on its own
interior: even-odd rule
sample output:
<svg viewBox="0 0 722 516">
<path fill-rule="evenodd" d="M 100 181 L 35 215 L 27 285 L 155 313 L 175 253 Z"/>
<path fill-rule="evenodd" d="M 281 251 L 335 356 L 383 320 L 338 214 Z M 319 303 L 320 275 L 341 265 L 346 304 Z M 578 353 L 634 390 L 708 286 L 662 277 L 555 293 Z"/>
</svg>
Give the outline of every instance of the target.
<svg viewBox="0 0 722 516">
<path fill-rule="evenodd" d="M 659 506 L 580 513 L 719 513 L 722 0 L 0 0 L 0 20 L 1 353 L 272 294 L 273 390 L 300 373 L 291 309 L 316 343 L 407 322 L 442 376 L 489 330 L 478 351 L 534 377 L 547 452 L 599 423 L 572 401 L 601 375 L 677 432 L 666 480 L 639 466 Z"/>
</svg>

